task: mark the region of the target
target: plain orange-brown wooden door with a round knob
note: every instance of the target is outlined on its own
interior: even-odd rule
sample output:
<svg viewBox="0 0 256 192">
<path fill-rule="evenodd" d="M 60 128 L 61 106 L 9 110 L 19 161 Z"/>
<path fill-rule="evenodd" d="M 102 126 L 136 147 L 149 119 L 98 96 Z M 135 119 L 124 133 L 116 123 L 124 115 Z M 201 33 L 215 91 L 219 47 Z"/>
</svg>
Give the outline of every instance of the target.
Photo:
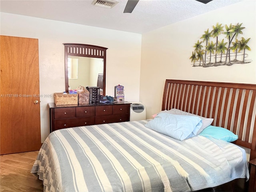
<svg viewBox="0 0 256 192">
<path fill-rule="evenodd" d="M 0 154 L 38 150 L 38 39 L 0 36 L 0 52 Z"/>
</svg>

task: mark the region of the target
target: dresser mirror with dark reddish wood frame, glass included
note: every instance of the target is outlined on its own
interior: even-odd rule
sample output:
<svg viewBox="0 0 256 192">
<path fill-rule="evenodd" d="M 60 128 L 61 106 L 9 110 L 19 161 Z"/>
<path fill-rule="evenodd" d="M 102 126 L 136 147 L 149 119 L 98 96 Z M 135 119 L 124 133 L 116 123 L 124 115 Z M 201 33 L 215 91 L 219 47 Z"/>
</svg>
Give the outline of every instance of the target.
<svg viewBox="0 0 256 192">
<path fill-rule="evenodd" d="M 106 50 L 108 48 L 64 43 L 65 90 L 81 86 L 98 86 L 100 94 L 106 92 Z"/>
</svg>

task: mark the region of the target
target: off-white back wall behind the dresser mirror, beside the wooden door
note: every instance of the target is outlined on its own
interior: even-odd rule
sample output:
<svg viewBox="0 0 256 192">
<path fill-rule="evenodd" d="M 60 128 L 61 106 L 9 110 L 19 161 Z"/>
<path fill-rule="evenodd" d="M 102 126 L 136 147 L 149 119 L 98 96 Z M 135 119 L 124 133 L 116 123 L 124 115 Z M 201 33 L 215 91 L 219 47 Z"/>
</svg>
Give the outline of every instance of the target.
<svg viewBox="0 0 256 192">
<path fill-rule="evenodd" d="M 140 34 L 2 12 L 0 16 L 1 35 L 38 38 L 40 94 L 65 91 L 63 43 L 82 43 L 108 48 L 106 95 L 114 96 L 114 86 L 122 84 L 126 100 L 139 100 Z M 42 142 L 49 134 L 49 102 L 54 98 L 41 98 Z"/>
</svg>

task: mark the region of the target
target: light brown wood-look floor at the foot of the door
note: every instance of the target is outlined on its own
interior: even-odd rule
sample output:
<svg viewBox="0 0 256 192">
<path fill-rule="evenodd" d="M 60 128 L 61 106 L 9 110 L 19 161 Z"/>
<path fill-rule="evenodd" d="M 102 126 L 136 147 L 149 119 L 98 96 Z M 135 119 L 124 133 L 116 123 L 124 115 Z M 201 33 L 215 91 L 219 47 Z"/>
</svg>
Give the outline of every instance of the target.
<svg viewBox="0 0 256 192">
<path fill-rule="evenodd" d="M 38 151 L 0 156 L 0 192 L 43 192 L 42 180 L 30 170 Z"/>
</svg>

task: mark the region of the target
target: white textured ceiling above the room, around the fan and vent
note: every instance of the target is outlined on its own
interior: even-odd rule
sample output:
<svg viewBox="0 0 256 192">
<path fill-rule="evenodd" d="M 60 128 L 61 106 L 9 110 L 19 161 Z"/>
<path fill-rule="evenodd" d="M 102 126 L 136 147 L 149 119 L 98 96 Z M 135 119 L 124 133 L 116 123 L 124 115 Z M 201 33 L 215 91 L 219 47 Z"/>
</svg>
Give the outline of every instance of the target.
<svg viewBox="0 0 256 192">
<path fill-rule="evenodd" d="M 132 13 L 123 13 L 127 0 L 113 8 L 93 0 L 0 0 L 0 11 L 143 34 L 241 0 L 140 0 Z"/>
</svg>

